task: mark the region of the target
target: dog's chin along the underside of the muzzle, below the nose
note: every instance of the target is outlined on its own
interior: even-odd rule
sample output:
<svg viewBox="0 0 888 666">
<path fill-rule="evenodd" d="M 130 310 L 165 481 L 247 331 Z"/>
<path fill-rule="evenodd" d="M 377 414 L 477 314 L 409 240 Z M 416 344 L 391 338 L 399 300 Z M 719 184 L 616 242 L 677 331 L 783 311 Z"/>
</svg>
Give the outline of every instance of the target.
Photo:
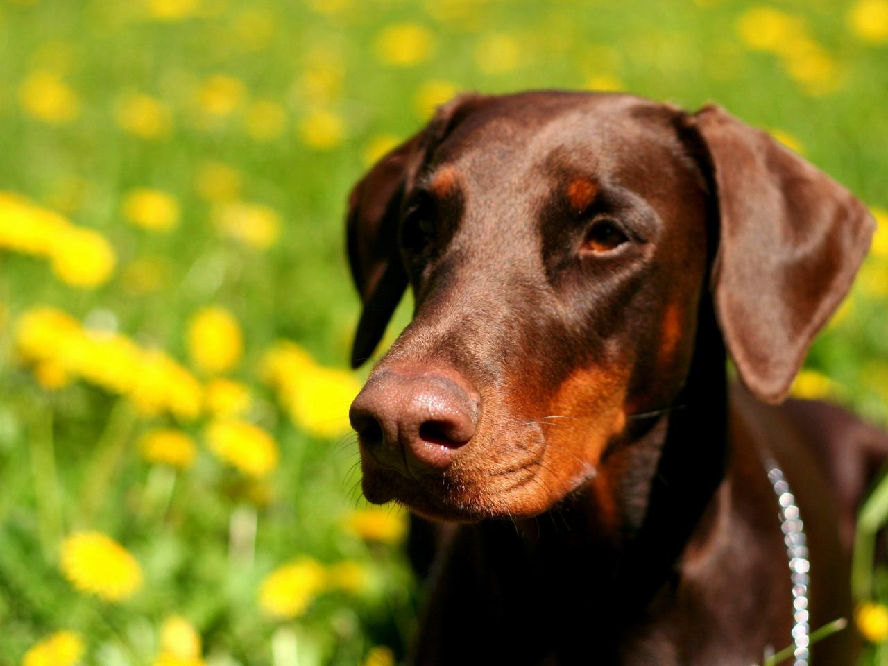
<svg viewBox="0 0 888 666">
<path fill-rule="evenodd" d="M 503 490 L 442 479 L 416 480 L 366 463 L 361 489 L 369 503 L 399 503 L 425 519 L 443 522 L 533 518 L 554 503 L 533 483 Z"/>
</svg>

